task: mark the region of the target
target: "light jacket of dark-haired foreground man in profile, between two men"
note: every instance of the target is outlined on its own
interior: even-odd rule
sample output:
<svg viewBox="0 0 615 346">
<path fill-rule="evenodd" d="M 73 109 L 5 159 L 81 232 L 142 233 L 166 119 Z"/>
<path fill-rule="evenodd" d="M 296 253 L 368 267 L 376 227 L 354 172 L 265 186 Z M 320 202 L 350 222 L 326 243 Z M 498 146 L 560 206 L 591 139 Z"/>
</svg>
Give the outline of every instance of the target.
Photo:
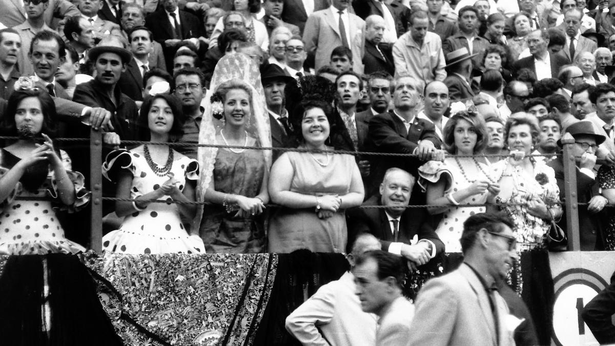
<svg viewBox="0 0 615 346">
<path fill-rule="evenodd" d="M 405 346 L 412 334 L 410 324 L 415 316 L 415 305 L 404 296 L 391 302 L 378 320 L 376 346 Z"/>
</svg>

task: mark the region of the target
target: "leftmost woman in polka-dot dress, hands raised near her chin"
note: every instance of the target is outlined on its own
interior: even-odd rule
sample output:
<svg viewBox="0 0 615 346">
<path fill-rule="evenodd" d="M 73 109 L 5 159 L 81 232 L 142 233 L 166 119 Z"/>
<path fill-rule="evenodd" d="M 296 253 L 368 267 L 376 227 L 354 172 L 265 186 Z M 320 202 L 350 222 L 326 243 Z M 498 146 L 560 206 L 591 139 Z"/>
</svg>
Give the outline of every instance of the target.
<svg viewBox="0 0 615 346">
<path fill-rule="evenodd" d="M 10 95 L 0 126 L 20 139 L 0 150 L 0 254 L 85 251 L 64 237 L 55 215 L 74 212 L 89 201 L 83 175 L 70 170 L 71 159 L 54 148 L 49 137 L 55 134 L 56 118 L 54 101 L 46 92 L 30 89 Z M 46 200 L 16 200 L 17 196 Z"/>
</svg>

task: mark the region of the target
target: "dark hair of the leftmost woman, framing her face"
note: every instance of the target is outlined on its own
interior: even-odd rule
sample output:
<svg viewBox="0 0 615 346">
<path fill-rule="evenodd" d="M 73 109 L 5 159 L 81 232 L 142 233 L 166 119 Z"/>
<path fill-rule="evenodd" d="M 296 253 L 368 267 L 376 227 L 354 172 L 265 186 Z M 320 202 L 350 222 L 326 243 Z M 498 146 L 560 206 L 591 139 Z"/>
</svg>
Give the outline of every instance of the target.
<svg viewBox="0 0 615 346">
<path fill-rule="evenodd" d="M 36 97 L 41 102 L 43 115 L 41 133 L 44 133 L 53 139 L 57 135 L 58 131 L 58 114 L 55 110 L 55 103 L 46 91 L 42 91 L 42 89 L 39 88 L 17 90 L 10 94 L 6 111 L 4 112 L 2 119 L 0 119 L 0 127 L 2 127 L 2 131 L 0 131 L 0 133 L 7 136 L 17 135 L 15 113 L 17 113 L 19 103 L 28 97 Z"/>
</svg>

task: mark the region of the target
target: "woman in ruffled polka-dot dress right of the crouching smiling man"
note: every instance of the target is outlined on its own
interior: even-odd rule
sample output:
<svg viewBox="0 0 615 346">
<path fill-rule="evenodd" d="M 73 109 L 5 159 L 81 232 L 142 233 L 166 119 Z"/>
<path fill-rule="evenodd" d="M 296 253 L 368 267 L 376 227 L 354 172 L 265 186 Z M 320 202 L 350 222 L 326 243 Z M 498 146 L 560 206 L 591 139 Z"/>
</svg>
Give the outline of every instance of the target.
<svg viewBox="0 0 615 346">
<path fill-rule="evenodd" d="M 443 131 L 446 151 L 454 155 L 475 155 L 485 148 L 488 137 L 485 121 L 476 113 L 461 111 L 451 116 Z M 443 162 L 429 161 L 419 167 L 419 185 L 427 189 L 431 214 L 442 214 L 435 231 L 446 252 L 461 252 L 463 223 L 470 215 L 485 212 L 485 207 L 463 207 L 482 204 L 488 195 L 498 191 L 488 161 L 483 158 L 448 157 Z M 454 204 L 454 206 L 448 206 Z"/>
</svg>

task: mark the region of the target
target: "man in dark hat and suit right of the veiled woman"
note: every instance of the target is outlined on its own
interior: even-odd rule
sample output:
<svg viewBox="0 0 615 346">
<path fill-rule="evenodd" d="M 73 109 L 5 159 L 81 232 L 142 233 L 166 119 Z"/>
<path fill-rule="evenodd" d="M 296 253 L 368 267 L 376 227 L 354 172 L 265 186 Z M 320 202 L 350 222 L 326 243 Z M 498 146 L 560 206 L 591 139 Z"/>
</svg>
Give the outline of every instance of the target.
<svg viewBox="0 0 615 346">
<path fill-rule="evenodd" d="M 265 102 L 269 112 L 269 126 L 271 126 L 271 146 L 274 148 L 291 147 L 292 129 L 288 123 L 288 111 L 285 106 L 284 88 L 286 84 L 295 82 L 284 73 L 280 66 L 270 63 L 261 67 L 261 82 L 265 92 Z M 274 150 L 273 161 L 276 161 L 284 151 Z"/>
</svg>

